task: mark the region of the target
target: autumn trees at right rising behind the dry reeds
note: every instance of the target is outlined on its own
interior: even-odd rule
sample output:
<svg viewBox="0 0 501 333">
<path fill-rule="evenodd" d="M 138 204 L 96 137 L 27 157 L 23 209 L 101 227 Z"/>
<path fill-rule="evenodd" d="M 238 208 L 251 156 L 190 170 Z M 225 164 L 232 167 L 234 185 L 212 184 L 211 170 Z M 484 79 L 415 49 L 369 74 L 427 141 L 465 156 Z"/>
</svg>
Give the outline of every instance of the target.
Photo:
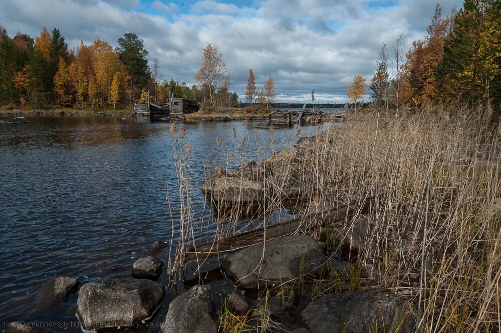
<svg viewBox="0 0 501 333">
<path fill-rule="evenodd" d="M 390 74 L 389 68 L 394 70 Z M 355 76 L 348 98 L 366 94 L 365 79 Z M 465 0 L 449 15 L 437 4 L 424 40 L 405 49 L 403 34 L 383 44 L 369 84 L 379 108 L 425 104 L 484 104 L 501 107 L 501 2 Z"/>
</svg>

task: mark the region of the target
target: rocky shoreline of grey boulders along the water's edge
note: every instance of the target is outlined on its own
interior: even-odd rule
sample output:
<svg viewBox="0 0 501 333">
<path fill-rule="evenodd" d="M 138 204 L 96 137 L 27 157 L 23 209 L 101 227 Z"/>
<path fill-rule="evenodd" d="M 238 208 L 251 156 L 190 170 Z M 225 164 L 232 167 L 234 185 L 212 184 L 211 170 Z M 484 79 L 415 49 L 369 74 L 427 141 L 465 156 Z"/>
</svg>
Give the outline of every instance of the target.
<svg viewBox="0 0 501 333">
<path fill-rule="evenodd" d="M 255 205 L 265 197 L 307 196 L 303 184 L 312 179 L 299 160 L 313 149 L 314 140 L 302 138 L 296 149 L 286 148 L 260 164 L 251 162 L 231 172 L 216 169 L 203 192 L 216 204 L 234 204 L 236 197 Z M 349 219 L 347 228 L 334 230 L 326 222 L 319 233 L 298 229 L 231 250 L 221 258 L 225 293 L 215 291 L 213 281 L 192 286 L 171 301 L 161 331 L 341 333 L 377 327 L 415 332 L 419 310 L 405 298 L 370 287 L 377 269 L 350 261 L 352 253 L 376 246 L 369 241 L 371 218 L 359 213 Z M 164 264 L 157 255 L 166 245 L 151 245 L 131 267 L 132 278 L 91 281 L 78 290 L 75 278 L 51 277 L 39 289 L 39 307 L 65 302 L 78 290 L 76 316 L 83 331 L 145 325 L 166 294 L 166 286 L 155 281 Z M 50 331 L 26 322 L 12 322 L 7 328 L 8 333 Z"/>
</svg>

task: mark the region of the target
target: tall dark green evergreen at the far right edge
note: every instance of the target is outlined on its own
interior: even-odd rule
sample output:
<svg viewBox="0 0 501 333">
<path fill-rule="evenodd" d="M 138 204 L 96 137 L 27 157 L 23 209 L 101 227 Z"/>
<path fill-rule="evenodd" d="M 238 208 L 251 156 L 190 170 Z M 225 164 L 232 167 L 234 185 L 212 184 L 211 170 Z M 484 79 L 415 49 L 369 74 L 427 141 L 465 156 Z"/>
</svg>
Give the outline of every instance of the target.
<svg viewBox="0 0 501 333">
<path fill-rule="evenodd" d="M 499 107 L 500 41 L 501 2 L 465 0 L 437 70 L 445 98 L 470 103 L 493 99 Z"/>
</svg>

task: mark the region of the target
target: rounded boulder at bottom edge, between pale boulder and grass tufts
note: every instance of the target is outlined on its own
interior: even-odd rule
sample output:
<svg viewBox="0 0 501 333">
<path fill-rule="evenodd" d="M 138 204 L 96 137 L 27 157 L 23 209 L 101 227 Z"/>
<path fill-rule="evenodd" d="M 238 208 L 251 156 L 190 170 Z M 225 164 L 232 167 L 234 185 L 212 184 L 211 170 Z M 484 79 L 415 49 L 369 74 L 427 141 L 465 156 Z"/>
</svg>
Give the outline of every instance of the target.
<svg viewBox="0 0 501 333">
<path fill-rule="evenodd" d="M 210 285 L 195 285 L 169 304 L 162 323 L 163 333 L 216 333 L 212 319 L 214 291 Z"/>
</svg>

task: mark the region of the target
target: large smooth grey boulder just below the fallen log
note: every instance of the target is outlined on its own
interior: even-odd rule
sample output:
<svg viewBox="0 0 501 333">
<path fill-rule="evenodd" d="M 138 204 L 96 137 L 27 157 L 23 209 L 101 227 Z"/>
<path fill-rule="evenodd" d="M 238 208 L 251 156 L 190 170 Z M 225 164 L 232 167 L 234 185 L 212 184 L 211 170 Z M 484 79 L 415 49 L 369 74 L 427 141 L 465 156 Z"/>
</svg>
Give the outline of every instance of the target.
<svg viewBox="0 0 501 333">
<path fill-rule="evenodd" d="M 238 285 L 259 288 L 289 281 L 302 273 L 318 274 L 324 261 L 324 251 L 311 236 L 292 235 L 244 248 L 227 257 L 223 268 Z"/>
</svg>

